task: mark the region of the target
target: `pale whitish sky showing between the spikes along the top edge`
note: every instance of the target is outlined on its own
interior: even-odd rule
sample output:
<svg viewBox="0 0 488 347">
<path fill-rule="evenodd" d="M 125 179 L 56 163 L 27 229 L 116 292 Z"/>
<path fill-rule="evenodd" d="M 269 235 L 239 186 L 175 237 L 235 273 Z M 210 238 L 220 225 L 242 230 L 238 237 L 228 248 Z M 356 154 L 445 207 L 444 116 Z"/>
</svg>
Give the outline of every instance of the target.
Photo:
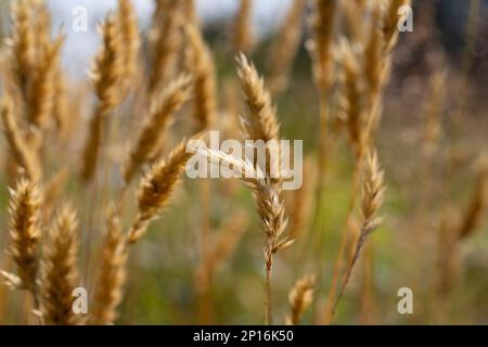
<svg viewBox="0 0 488 347">
<path fill-rule="evenodd" d="M 77 77 L 82 77 L 97 53 L 99 37 L 94 28 L 103 20 L 110 9 L 116 7 L 116 0 L 48 0 L 52 10 L 54 26 L 63 25 L 66 33 L 64 64 Z M 153 11 L 153 0 L 134 0 L 140 25 L 146 28 Z M 195 0 L 196 10 L 202 22 L 231 17 L 239 8 L 240 0 Z M 277 27 L 286 13 L 291 0 L 256 0 L 253 9 L 253 27 L 256 35 L 266 35 Z M 88 33 L 72 30 L 73 9 L 84 5 L 88 10 Z M 81 73 L 81 74 L 80 74 Z"/>
</svg>

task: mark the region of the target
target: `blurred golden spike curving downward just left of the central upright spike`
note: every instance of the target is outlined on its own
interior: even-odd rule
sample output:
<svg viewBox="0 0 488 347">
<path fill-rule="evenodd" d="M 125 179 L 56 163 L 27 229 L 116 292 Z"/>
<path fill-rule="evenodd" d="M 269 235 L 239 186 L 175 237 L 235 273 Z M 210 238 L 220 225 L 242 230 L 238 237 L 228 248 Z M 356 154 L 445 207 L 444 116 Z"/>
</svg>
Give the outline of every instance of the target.
<svg viewBox="0 0 488 347">
<path fill-rule="evenodd" d="M 185 64 L 194 79 L 193 113 L 197 121 L 196 131 L 200 132 L 214 123 L 217 112 L 215 65 L 200 28 L 185 25 L 184 33 L 188 39 Z"/>
</svg>

